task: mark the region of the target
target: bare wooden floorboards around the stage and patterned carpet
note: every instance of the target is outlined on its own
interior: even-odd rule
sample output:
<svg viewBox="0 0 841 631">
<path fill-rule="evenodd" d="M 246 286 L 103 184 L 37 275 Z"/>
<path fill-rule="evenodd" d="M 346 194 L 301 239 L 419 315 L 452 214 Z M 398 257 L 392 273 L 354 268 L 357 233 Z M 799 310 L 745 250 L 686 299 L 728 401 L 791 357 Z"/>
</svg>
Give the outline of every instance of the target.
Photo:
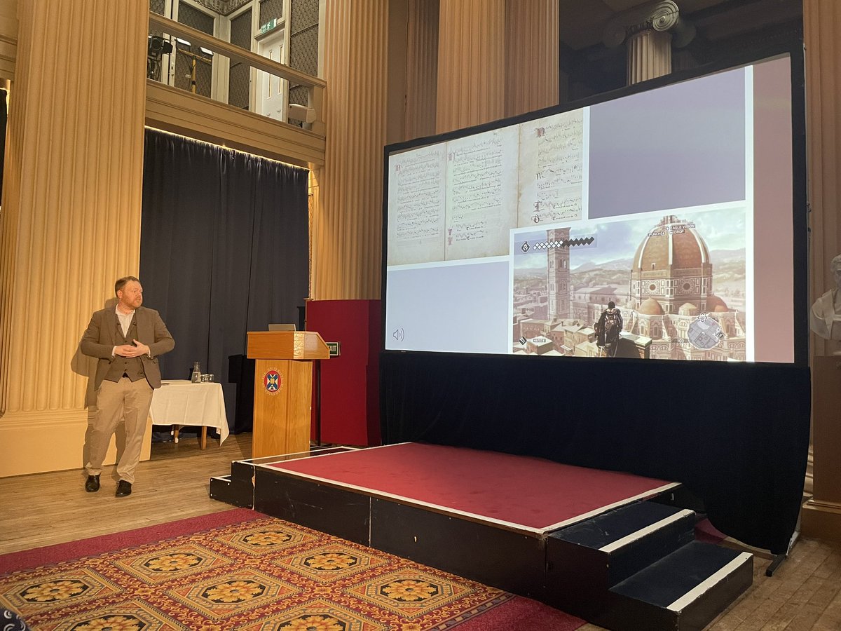
<svg viewBox="0 0 841 631">
<path fill-rule="evenodd" d="M 210 476 L 230 473 L 231 460 L 250 455 L 251 434 L 232 435 L 221 447 L 208 439 L 204 451 L 197 438 L 156 443 L 131 496 L 121 498 L 114 497 L 113 467 L 103 471 L 98 493 L 85 492 L 81 470 L 0 478 L 0 554 L 227 511 L 231 506 L 209 499 Z M 711 631 L 841 630 L 841 546 L 801 538 L 772 577 L 764 574 L 769 562 L 754 558 L 754 585 Z"/>
</svg>

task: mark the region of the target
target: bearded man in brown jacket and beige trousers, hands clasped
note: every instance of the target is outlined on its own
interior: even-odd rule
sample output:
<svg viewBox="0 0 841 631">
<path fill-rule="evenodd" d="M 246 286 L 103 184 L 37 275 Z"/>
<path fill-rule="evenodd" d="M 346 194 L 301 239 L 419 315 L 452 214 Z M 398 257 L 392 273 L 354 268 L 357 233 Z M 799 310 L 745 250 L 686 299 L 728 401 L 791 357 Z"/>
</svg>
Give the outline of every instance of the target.
<svg viewBox="0 0 841 631">
<path fill-rule="evenodd" d="M 87 432 L 85 490 L 99 490 L 99 475 L 108 443 L 120 421 L 125 422 L 125 449 L 117 464 L 117 497 L 131 494 L 135 469 L 149 416 L 152 390 L 161 386 L 158 356 L 175 341 L 156 310 L 143 304 L 143 288 L 134 276 L 114 284 L 117 306 L 98 310 L 82 336 L 82 353 L 98 358 L 93 387 L 97 413 Z"/>
</svg>

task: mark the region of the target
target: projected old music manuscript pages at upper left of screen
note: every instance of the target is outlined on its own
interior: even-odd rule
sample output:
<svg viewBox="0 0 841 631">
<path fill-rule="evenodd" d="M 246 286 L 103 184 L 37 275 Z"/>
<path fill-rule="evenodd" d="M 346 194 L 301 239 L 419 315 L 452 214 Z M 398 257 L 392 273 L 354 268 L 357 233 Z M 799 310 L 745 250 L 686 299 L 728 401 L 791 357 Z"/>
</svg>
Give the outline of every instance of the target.
<svg viewBox="0 0 841 631">
<path fill-rule="evenodd" d="M 389 156 L 388 264 L 505 256 L 510 229 L 579 219 L 583 139 L 579 111 Z"/>
</svg>

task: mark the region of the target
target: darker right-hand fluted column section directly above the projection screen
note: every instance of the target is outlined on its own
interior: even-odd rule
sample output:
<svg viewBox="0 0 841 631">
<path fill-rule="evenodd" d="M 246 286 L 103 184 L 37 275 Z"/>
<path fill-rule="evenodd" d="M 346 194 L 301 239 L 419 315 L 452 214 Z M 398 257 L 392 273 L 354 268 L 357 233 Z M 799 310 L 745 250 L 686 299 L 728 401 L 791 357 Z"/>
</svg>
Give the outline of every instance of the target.
<svg viewBox="0 0 841 631">
<path fill-rule="evenodd" d="M 558 0 L 508 0 L 505 116 L 558 104 Z"/>
</svg>

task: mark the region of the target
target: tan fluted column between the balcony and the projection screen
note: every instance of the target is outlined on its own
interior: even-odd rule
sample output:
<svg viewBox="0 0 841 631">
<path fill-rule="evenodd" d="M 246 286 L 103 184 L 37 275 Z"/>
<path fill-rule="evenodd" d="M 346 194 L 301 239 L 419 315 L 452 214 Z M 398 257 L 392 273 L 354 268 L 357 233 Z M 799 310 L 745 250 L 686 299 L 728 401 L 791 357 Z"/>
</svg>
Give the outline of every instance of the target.
<svg viewBox="0 0 841 631">
<path fill-rule="evenodd" d="M 315 173 L 312 297 L 380 294 L 389 2 L 325 3 L 325 166 Z"/>
</svg>

